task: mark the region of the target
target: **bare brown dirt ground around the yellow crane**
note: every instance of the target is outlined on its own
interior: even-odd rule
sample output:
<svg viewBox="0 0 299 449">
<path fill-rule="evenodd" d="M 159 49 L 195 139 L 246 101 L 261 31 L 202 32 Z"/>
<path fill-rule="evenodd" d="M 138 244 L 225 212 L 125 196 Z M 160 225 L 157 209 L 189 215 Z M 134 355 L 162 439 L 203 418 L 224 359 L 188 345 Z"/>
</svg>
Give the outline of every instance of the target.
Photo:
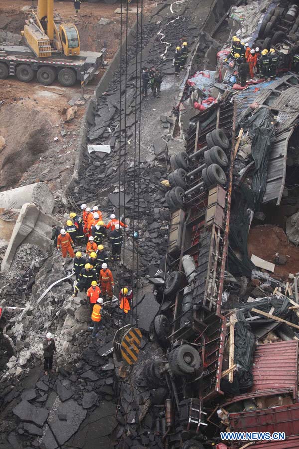
<svg viewBox="0 0 299 449">
<path fill-rule="evenodd" d="M 26 13 L 24 6 L 37 6 L 36 0 L 1 0 L 0 29 L 19 34 L 23 29 Z M 145 11 L 156 3 L 148 1 Z M 132 2 L 132 7 L 136 7 Z M 82 2 L 78 17 L 74 15 L 72 1 L 54 3 L 55 13 L 76 24 L 82 50 L 100 51 L 107 41 L 107 61 L 111 60 L 119 45 L 120 14 L 114 11 L 119 3 L 92 4 Z M 111 23 L 99 25 L 100 18 Z M 129 25 L 135 14 L 130 14 Z M 103 75 L 85 88 L 86 96 L 93 93 Z M 47 182 L 56 198 L 67 184 L 73 171 L 75 148 L 84 107 L 78 107 L 76 117 L 65 123 L 68 102 L 80 97 L 80 84 L 63 88 L 57 82 L 46 87 L 36 81 L 22 83 L 14 77 L 0 80 L 0 135 L 6 139 L 6 147 L 0 152 L 0 190 L 29 184 L 36 180 Z M 61 131 L 67 132 L 62 137 Z M 57 139 L 54 140 L 56 137 Z"/>
</svg>

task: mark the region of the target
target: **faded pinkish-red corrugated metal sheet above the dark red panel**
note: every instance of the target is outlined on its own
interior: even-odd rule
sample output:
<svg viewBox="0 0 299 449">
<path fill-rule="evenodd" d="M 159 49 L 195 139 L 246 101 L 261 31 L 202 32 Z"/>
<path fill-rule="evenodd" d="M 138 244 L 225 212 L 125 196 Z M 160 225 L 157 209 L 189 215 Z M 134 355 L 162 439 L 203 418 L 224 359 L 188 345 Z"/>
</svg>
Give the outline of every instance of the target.
<svg viewBox="0 0 299 449">
<path fill-rule="evenodd" d="M 298 402 L 298 341 L 257 346 L 253 358 L 253 386 L 223 405 L 262 396 L 291 394 Z"/>
</svg>

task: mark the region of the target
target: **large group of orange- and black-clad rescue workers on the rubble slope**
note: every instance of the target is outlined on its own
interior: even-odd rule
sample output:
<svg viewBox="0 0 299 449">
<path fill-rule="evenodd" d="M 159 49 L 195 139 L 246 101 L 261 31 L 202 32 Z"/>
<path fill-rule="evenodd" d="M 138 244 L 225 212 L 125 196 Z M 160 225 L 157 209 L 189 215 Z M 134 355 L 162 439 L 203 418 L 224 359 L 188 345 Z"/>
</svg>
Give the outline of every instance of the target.
<svg viewBox="0 0 299 449">
<path fill-rule="evenodd" d="M 122 230 L 128 225 L 118 220 L 115 214 L 110 215 L 107 224 L 103 221 L 102 212 L 98 206 L 92 209 L 86 204 L 81 205 L 82 217 L 76 212 L 69 214 L 69 219 L 63 229 L 53 225 L 52 240 L 58 251 L 62 254 L 62 265 L 65 265 L 67 255 L 73 258 L 73 269 L 76 279 L 74 293 L 86 293 L 86 300 L 91 307 L 91 320 L 94 323 L 92 339 L 100 330 L 101 309 L 108 296 L 108 303 L 113 300 L 114 279 L 108 268 L 109 257 L 104 248 L 104 240 L 109 239 L 111 245 L 111 261 L 120 260 L 123 243 Z M 109 235 L 108 235 L 109 231 Z M 75 245 L 84 247 L 83 251 L 74 252 Z M 119 307 L 124 317 L 128 317 L 133 299 L 130 287 L 123 287 L 119 292 Z"/>
</svg>

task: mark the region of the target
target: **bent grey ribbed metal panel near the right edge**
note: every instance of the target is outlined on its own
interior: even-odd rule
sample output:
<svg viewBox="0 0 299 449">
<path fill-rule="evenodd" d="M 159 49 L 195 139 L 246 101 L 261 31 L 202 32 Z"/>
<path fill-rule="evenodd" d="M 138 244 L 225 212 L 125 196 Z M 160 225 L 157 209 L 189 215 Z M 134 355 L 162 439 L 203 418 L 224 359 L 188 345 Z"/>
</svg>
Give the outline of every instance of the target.
<svg viewBox="0 0 299 449">
<path fill-rule="evenodd" d="M 294 128 L 292 127 L 280 133 L 275 139 L 269 155 L 267 183 L 263 203 L 277 199 L 276 205 L 279 206 L 281 202 L 286 179 L 288 142 L 293 131 Z"/>
</svg>

